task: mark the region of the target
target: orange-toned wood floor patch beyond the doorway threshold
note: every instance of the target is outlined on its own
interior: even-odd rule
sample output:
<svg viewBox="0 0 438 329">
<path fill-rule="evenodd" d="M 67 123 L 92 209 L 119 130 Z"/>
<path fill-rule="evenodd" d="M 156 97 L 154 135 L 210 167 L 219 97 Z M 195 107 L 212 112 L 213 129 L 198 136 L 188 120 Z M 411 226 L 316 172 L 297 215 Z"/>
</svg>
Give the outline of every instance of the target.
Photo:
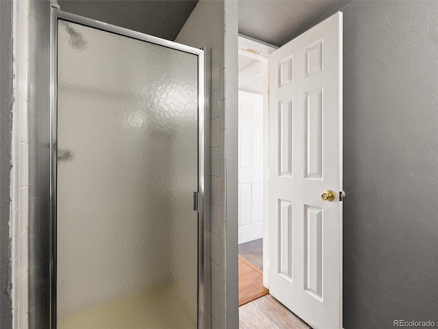
<svg viewBox="0 0 438 329">
<path fill-rule="evenodd" d="M 263 272 L 239 256 L 239 306 L 268 293 L 263 287 Z"/>
</svg>

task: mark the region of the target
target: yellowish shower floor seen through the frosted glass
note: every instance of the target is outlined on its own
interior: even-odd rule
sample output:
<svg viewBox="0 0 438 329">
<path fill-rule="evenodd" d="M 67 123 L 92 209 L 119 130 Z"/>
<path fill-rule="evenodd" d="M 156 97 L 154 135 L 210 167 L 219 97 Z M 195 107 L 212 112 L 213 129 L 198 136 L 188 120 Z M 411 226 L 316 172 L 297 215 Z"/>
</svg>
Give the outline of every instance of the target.
<svg viewBox="0 0 438 329">
<path fill-rule="evenodd" d="M 196 319 L 172 290 L 163 287 L 118 297 L 59 319 L 57 328 L 196 329 Z"/>
</svg>

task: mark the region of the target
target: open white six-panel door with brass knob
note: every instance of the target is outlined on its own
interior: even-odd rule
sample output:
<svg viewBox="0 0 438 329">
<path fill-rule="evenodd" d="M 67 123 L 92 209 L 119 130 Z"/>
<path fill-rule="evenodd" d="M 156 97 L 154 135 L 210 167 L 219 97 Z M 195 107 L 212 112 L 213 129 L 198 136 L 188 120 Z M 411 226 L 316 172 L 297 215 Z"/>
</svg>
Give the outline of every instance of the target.
<svg viewBox="0 0 438 329">
<path fill-rule="evenodd" d="M 270 55 L 269 129 L 270 293 L 314 329 L 342 328 L 341 12 Z"/>
</svg>

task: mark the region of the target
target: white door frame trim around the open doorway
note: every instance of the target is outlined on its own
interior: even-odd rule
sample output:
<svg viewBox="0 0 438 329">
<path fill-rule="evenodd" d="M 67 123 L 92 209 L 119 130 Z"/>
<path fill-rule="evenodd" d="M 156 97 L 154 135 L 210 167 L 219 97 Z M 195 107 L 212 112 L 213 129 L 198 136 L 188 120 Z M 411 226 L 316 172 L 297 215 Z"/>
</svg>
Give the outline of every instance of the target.
<svg viewBox="0 0 438 329">
<path fill-rule="evenodd" d="M 269 289 L 268 257 L 268 180 L 269 180 L 269 55 L 278 47 L 239 34 L 239 55 L 259 62 L 239 72 L 239 85 L 263 71 L 263 286 Z"/>
</svg>

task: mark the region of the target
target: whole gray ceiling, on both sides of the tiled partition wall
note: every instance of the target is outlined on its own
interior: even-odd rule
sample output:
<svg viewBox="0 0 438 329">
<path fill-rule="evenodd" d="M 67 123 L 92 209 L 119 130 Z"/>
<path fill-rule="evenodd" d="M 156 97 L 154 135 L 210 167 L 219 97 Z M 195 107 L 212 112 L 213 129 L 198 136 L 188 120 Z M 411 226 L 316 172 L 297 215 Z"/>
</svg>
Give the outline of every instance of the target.
<svg viewBox="0 0 438 329">
<path fill-rule="evenodd" d="M 238 0 L 239 33 L 282 46 L 350 1 Z M 58 3 L 66 12 L 175 40 L 198 0 L 58 0 Z"/>
</svg>

